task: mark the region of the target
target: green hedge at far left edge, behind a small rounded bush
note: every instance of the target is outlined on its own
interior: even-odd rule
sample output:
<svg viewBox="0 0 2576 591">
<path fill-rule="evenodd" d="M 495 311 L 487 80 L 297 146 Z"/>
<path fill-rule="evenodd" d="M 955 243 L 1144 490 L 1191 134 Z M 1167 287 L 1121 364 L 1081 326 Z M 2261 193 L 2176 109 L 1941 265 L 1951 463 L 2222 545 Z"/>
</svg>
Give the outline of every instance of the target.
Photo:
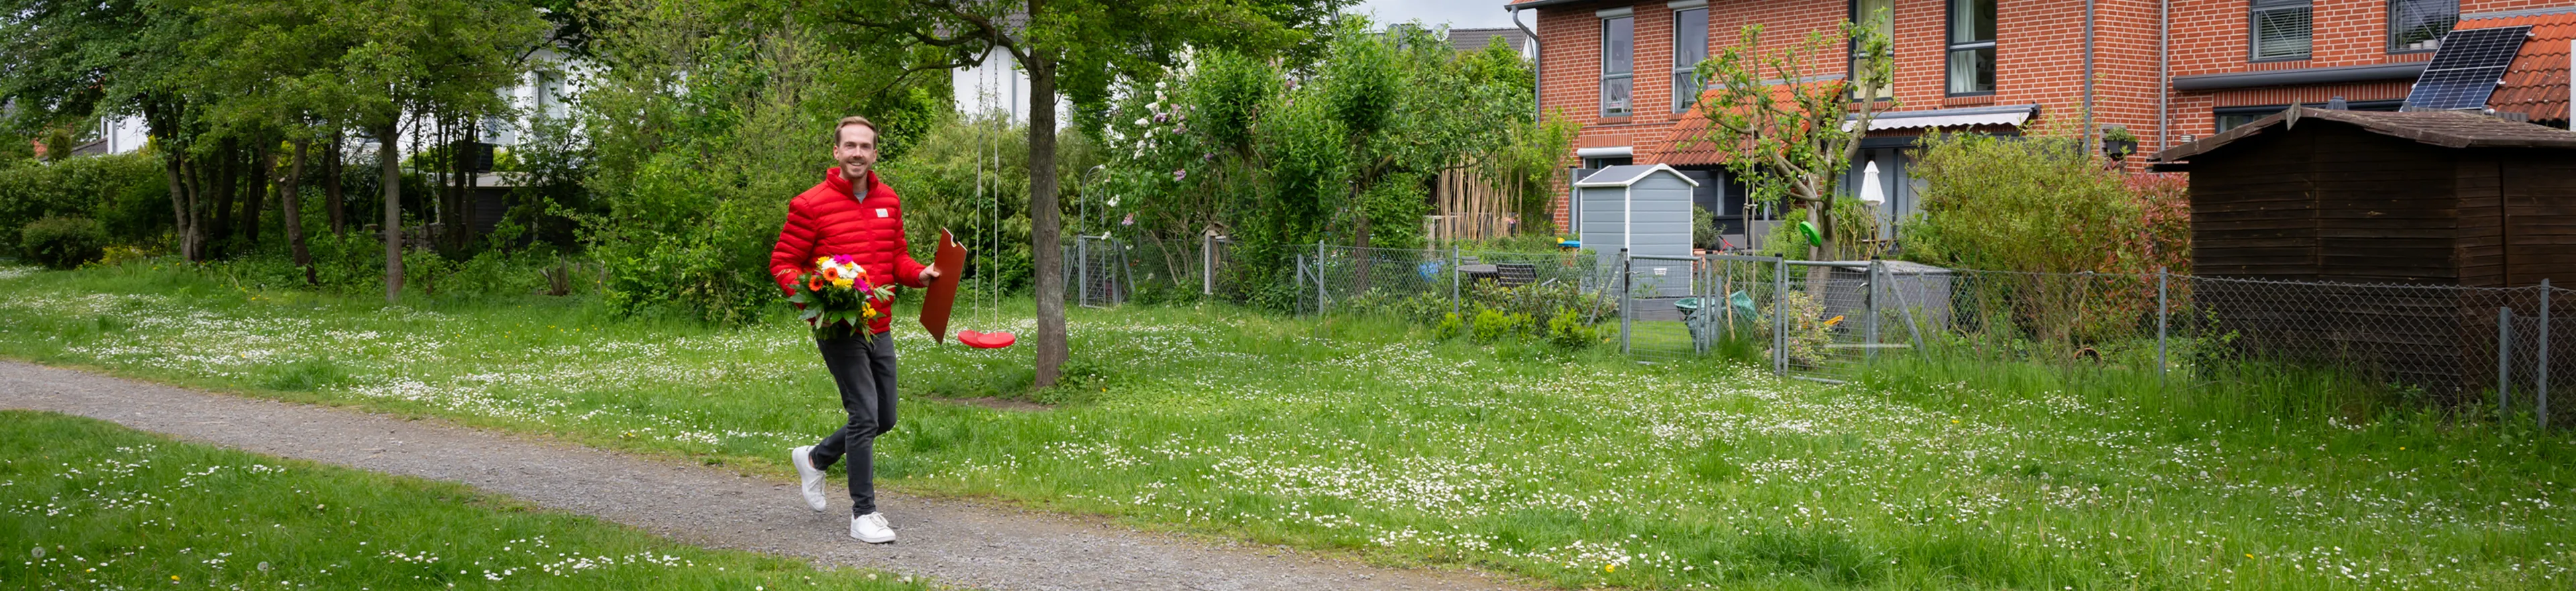
<svg viewBox="0 0 2576 591">
<path fill-rule="evenodd" d="M 0 168 L 0 235 L 44 217 L 98 219 L 108 243 L 155 240 L 170 227 L 170 181 L 152 155 L 98 155 Z M 10 253 L 15 240 L 0 240 Z"/>
</svg>

